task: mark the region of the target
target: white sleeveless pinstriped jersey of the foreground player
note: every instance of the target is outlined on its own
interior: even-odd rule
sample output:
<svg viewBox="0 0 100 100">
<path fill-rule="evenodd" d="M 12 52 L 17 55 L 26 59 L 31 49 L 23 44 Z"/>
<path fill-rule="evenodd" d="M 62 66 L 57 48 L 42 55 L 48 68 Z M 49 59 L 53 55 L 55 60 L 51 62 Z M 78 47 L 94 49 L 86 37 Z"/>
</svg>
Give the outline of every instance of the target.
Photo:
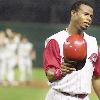
<svg viewBox="0 0 100 100">
<path fill-rule="evenodd" d="M 65 30 L 60 31 L 45 41 L 45 47 L 47 43 L 54 39 L 57 41 L 60 48 L 61 62 L 63 62 L 63 44 L 69 37 L 68 32 Z M 73 71 L 71 74 L 67 74 L 61 80 L 50 83 L 49 85 L 56 90 L 67 92 L 71 94 L 87 94 L 91 92 L 91 79 L 94 71 L 93 63 L 90 57 L 93 54 L 98 54 L 97 41 L 94 37 L 87 35 L 84 32 L 84 39 L 87 42 L 87 58 L 84 67 L 81 70 Z"/>
</svg>

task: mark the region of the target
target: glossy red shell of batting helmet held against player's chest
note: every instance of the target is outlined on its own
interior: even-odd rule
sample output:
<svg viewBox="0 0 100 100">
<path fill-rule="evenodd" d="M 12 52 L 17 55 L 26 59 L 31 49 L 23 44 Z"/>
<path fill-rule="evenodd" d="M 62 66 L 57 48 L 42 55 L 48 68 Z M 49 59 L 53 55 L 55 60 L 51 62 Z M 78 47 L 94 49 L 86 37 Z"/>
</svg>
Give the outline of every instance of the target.
<svg viewBox="0 0 100 100">
<path fill-rule="evenodd" d="M 82 61 L 87 56 L 87 43 L 85 39 L 73 34 L 66 39 L 63 45 L 64 59 Z"/>
</svg>

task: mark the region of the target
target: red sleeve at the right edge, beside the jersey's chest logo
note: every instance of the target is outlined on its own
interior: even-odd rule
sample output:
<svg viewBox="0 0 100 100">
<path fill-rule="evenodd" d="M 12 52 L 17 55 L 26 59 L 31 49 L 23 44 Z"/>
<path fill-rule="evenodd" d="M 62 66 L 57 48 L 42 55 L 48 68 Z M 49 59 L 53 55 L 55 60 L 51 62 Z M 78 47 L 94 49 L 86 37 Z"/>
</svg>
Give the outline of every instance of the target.
<svg viewBox="0 0 100 100">
<path fill-rule="evenodd" d="M 100 52 L 98 53 L 97 62 L 95 63 L 94 76 L 100 77 Z"/>
</svg>

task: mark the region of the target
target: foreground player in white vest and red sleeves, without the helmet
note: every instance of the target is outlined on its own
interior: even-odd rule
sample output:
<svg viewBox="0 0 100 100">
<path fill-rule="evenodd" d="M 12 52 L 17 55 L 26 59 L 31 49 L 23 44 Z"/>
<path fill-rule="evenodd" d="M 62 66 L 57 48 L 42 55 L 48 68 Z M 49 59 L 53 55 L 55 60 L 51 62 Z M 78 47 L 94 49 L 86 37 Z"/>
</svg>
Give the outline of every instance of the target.
<svg viewBox="0 0 100 100">
<path fill-rule="evenodd" d="M 71 20 L 68 27 L 45 41 L 43 64 L 48 83 L 51 87 L 45 100 L 89 100 L 92 77 L 97 77 L 95 63 L 98 56 L 98 45 L 95 37 L 84 32 L 92 23 L 93 8 L 85 1 L 77 1 L 70 10 Z M 76 71 L 73 63 L 65 63 L 63 44 L 71 34 L 83 36 L 87 42 L 87 57 L 82 69 Z M 92 45 L 91 45 L 92 43 Z M 100 66 L 98 66 L 100 69 Z M 97 73 L 97 72 L 96 72 Z M 98 72 L 100 77 L 100 71 Z M 93 84 L 98 79 L 93 78 Z M 100 87 L 100 80 L 98 80 Z M 97 84 L 94 89 L 100 99 Z"/>
</svg>

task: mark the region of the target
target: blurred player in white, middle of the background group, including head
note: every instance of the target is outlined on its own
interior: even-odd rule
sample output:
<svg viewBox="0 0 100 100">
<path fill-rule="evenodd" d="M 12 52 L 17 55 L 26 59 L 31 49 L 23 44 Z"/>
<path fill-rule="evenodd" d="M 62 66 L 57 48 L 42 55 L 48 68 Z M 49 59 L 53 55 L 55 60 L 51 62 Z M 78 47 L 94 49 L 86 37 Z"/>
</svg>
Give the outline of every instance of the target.
<svg viewBox="0 0 100 100">
<path fill-rule="evenodd" d="M 8 81 L 9 84 L 16 85 L 15 81 L 15 67 L 17 65 L 17 48 L 20 41 L 20 37 L 18 37 L 15 32 L 11 29 L 6 29 L 6 35 L 8 37 L 8 41 L 6 42 L 6 47 L 10 50 L 11 56 L 8 62 Z M 16 38 L 17 37 L 17 38 Z"/>
</svg>

